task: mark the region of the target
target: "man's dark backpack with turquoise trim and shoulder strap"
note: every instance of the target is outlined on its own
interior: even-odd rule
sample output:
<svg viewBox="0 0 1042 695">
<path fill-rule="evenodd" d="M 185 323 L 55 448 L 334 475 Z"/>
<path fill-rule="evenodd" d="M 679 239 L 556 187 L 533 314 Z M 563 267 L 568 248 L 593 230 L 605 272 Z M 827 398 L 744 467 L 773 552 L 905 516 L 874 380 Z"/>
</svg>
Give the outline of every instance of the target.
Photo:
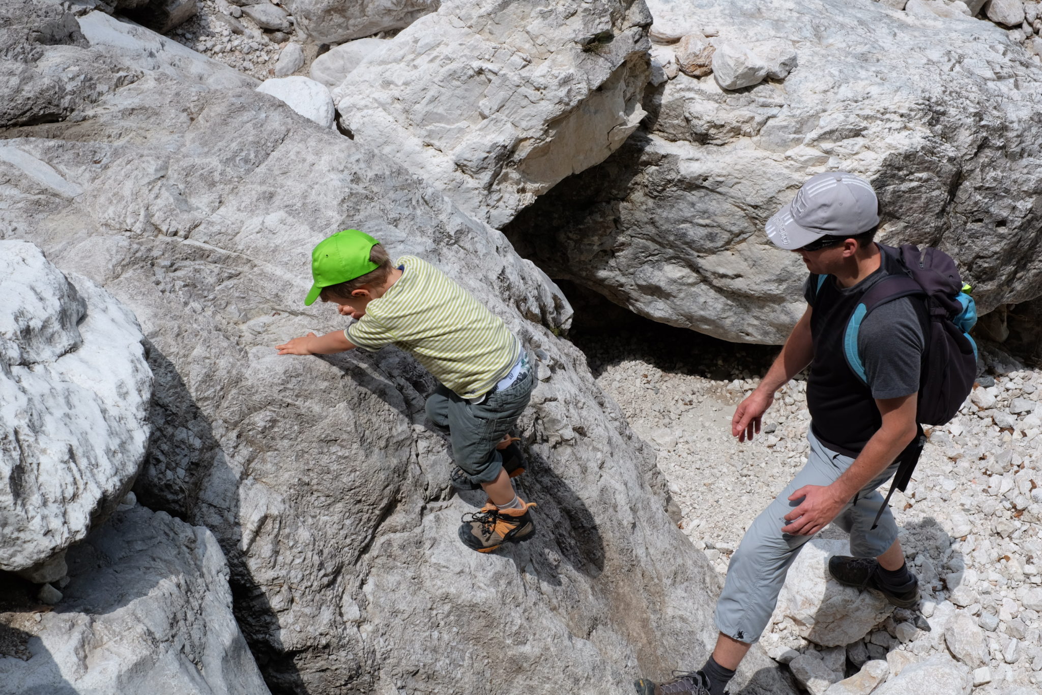
<svg viewBox="0 0 1042 695">
<path fill-rule="evenodd" d="M 973 298 L 964 292 L 969 287 L 963 284 L 956 262 L 947 253 L 932 247 L 920 250 L 912 244 L 900 248 L 878 244 L 878 247 L 883 253 L 896 258 L 904 272 L 888 275 L 861 298 L 843 337 L 847 364 L 865 381 L 865 366 L 858 353 L 858 330 L 862 321 L 882 304 L 901 297 L 918 297 L 926 307 L 923 326 L 926 346 L 919 378 L 917 419 L 924 425 L 943 425 L 956 417 L 976 378 L 976 344 L 969 334 L 976 323 L 976 306 Z M 818 289 L 825 277 L 818 277 Z M 926 438 L 920 427 L 918 437 L 897 456 L 900 462 L 897 473 L 872 528 L 890 502 L 894 489 L 904 492 L 925 444 Z"/>
</svg>

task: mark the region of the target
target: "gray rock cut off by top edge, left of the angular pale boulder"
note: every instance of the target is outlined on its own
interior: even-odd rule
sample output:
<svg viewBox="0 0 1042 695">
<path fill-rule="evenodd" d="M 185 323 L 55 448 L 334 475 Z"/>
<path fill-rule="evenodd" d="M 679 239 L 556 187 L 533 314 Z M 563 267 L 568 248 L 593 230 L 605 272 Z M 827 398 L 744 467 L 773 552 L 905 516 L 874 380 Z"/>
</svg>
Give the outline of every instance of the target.
<svg viewBox="0 0 1042 695">
<path fill-rule="evenodd" d="M 402 29 L 438 9 L 441 0 L 289 0 L 301 31 L 320 44 Z"/>
</svg>

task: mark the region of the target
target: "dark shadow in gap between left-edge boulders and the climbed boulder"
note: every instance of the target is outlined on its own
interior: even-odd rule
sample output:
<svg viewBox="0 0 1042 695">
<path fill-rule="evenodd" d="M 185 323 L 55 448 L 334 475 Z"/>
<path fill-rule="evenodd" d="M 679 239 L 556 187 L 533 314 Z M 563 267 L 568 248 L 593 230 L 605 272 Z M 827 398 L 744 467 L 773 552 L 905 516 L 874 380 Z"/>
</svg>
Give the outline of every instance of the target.
<svg viewBox="0 0 1042 695">
<path fill-rule="evenodd" d="M 155 375 L 150 413 L 153 429 L 134 492 L 145 506 L 189 523 L 209 526 L 189 513 L 200 486 L 205 481 L 208 486 L 234 488 L 240 482 L 239 476 L 226 465 L 209 421 L 196 405 L 173 363 L 149 341 L 145 341 L 145 350 Z M 209 527 L 228 562 L 235 621 L 271 692 L 306 693 L 294 654 L 282 649 L 278 617 L 246 563 L 239 496 L 228 494 L 225 499 L 231 506 L 220 511 L 221 517 L 233 523 Z"/>
</svg>

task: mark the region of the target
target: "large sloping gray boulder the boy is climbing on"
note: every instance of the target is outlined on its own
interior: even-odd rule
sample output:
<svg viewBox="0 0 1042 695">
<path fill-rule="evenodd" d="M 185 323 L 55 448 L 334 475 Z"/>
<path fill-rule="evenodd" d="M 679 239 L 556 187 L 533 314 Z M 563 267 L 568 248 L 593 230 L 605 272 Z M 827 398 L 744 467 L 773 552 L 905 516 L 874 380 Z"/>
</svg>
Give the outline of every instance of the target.
<svg viewBox="0 0 1042 695">
<path fill-rule="evenodd" d="M 149 74 L 6 134 L 82 193 L 0 160 L 0 237 L 35 241 L 135 311 L 156 373 L 135 492 L 218 538 L 273 690 L 556 693 L 565 674 L 575 692 L 624 692 L 711 648 L 719 578 L 666 514 L 652 452 L 556 338 L 567 301 L 501 233 L 363 139 L 253 90 Z M 539 361 L 519 424 L 520 489 L 539 504 L 529 543 L 460 544 L 460 515 L 485 500 L 452 494 L 414 361 L 275 354 L 344 326 L 302 304 L 312 246 L 344 227 L 437 264 Z M 759 648 L 736 686 L 795 692 Z"/>
</svg>

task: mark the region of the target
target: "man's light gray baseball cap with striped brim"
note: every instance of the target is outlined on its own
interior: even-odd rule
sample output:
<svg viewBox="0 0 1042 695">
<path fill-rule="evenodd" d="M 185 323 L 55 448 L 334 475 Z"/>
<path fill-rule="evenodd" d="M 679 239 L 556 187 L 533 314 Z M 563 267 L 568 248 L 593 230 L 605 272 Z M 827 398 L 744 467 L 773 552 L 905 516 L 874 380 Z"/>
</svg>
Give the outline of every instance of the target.
<svg viewBox="0 0 1042 695">
<path fill-rule="evenodd" d="M 784 249 L 798 249 L 832 234 L 852 237 L 879 224 L 879 201 L 872 185 L 845 171 L 812 176 L 791 203 L 767 221 L 767 238 Z"/>
</svg>

